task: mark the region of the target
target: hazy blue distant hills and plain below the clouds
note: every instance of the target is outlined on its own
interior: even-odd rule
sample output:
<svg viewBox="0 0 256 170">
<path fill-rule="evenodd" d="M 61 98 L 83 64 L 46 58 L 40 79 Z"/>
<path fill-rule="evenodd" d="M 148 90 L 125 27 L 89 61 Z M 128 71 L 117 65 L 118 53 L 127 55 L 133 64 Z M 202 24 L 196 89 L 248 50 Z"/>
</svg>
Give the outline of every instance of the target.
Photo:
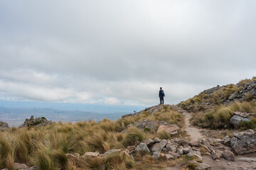
<svg viewBox="0 0 256 170">
<path fill-rule="evenodd" d="M 86 111 L 60 111 L 52 108 L 4 108 L 0 107 L 0 121 L 4 121 L 9 126 L 21 125 L 26 118 L 31 115 L 36 117 L 45 117 L 55 122 L 76 122 L 82 120 L 102 120 L 108 118 L 117 120 L 127 113 L 92 113 Z"/>
</svg>

